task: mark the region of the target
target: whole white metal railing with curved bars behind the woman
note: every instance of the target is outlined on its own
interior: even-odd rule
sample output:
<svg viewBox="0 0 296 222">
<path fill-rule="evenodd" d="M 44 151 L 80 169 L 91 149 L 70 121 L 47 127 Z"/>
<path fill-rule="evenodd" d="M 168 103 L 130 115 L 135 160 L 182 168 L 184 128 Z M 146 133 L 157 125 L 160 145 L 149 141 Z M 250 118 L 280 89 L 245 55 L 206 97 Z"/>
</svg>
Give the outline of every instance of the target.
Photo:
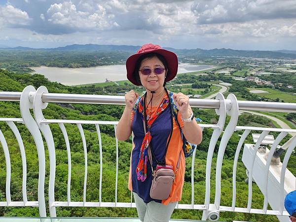
<svg viewBox="0 0 296 222">
<path fill-rule="evenodd" d="M 116 172 L 115 172 L 115 202 L 102 202 L 102 139 L 100 125 L 112 125 L 114 131 L 118 122 L 116 121 L 90 121 L 90 120 L 65 120 L 65 119 L 46 119 L 42 114 L 42 110 L 46 109 L 48 103 L 85 103 L 85 104 L 117 104 L 124 105 L 123 96 L 102 96 L 102 95 L 78 95 L 78 94 L 57 94 L 48 93 L 46 87 L 41 86 L 37 90 L 33 86 L 27 86 L 23 92 L 0 92 L 0 101 L 19 101 L 20 111 L 22 118 L 0 118 L 0 121 L 5 121 L 8 126 L 13 131 L 17 142 L 20 147 L 22 164 L 23 164 L 23 201 L 13 202 L 10 198 L 10 157 L 8 147 L 5 138 L 0 131 L 0 142 L 4 150 L 4 156 L 6 161 L 6 202 L 0 202 L 0 206 L 38 206 L 41 217 L 46 217 L 45 209 L 45 198 L 44 198 L 44 181 L 45 181 L 45 152 L 42 141 L 41 133 L 45 139 L 48 153 L 49 153 L 49 188 L 48 188 L 48 200 L 49 200 L 49 212 L 51 217 L 56 217 L 56 207 L 69 206 L 69 207 L 135 207 L 132 202 L 117 202 L 117 180 L 118 180 L 118 142 L 115 138 L 115 149 L 116 149 Z M 267 210 L 268 203 L 268 174 L 270 162 L 272 159 L 272 154 L 274 153 L 277 145 L 285 138 L 288 133 L 294 133 L 296 135 L 295 129 L 278 129 L 278 128 L 262 128 L 262 127 L 250 127 L 250 126 L 237 126 L 238 116 L 240 110 L 261 110 L 261 111 L 285 111 L 285 112 L 296 112 L 296 104 L 292 103 L 270 103 L 270 102 L 255 102 L 255 101 L 237 101 L 233 94 L 229 94 L 225 99 L 222 94 L 218 94 L 216 99 L 190 99 L 191 107 L 198 108 L 212 108 L 216 109 L 216 113 L 219 116 L 219 121 L 217 124 L 199 124 L 202 129 L 211 128 L 213 129 L 213 134 L 210 140 L 207 163 L 206 163 L 206 193 L 204 204 L 194 203 L 194 160 L 196 150 L 193 152 L 192 165 L 191 165 L 191 203 L 190 204 L 178 204 L 176 208 L 178 209 L 194 209 L 203 210 L 203 220 L 206 220 L 211 213 L 220 211 L 233 211 L 233 212 L 243 212 L 243 213 L 258 213 L 258 214 L 270 214 L 270 215 L 288 215 L 283 209 L 284 196 L 287 193 L 285 190 L 285 172 L 288 164 L 290 155 L 292 154 L 296 146 L 296 137 L 290 143 L 289 148 L 285 154 L 283 160 L 283 165 L 281 168 L 281 178 L 280 178 L 280 201 L 282 203 L 280 209 Z M 34 118 L 30 113 L 30 109 L 34 111 Z M 226 116 L 230 116 L 228 124 L 225 126 Z M 22 122 L 30 131 L 34 138 L 37 153 L 38 153 L 38 163 L 39 163 L 39 179 L 38 179 L 38 201 L 28 201 L 27 191 L 26 191 L 26 156 L 24 152 L 24 145 L 22 143 L 22 138 L 18 132 L 17 127 L 14 122 Z M 57 123 L 63 133 L 68 157 L 68 182 L 67 182 L 67 201 L 56 201 L 54 195 L 54 185 L 55 185 L 55 175 L 56 175 L 56 156 L 55 156 L 55 145 L 53 140 L 53 135 L 49 125 L 52 123 Z M 84 183 L 83 183 L 83 201 L 73 202 L 71 201 L 71 147 L 69 142 L 69 137 L 64 124 L 76 124 L 82 144 L 84 153 Z M 83 125 L 90 124 L 95 125 L 96 132 L 99 141 L 99 155 L 100 155 L 100 182 L 99 182 L 99 201 L 98 202 L 87 202 L 86 200 L 86 185 L 87 185 L 87 146 L 86 139 L 83 132 Z M 225 127 L 224 127 L 225 126 Z M 224 131 L 223 131 L 224 129 Z M 221 172 L 222 172 L 222 161 L 224 156 L 224 151 L 228 144 L 230 137 L 236 130 L 244 130 L 243 135 L 237 145 L 236 153 L 234 156 L 233 163 L 233 177 L 232 177 L 232 204 L 231 206 L 221 206 Z M 251 170 L 249 171 L 249 184 L 248 184 L 248 205 L 245 208 L 236 207 L 236 171 L 238 158 L 240 155 L 241 148 L 251 131 L 262 131 L 253 152 L 253 162 L 251 162 Z M 223 132 L 223 134 L 222 134 Z M 252 176 L 253 176 L 253 166 L 255 164 L 256 153 L 259 148 L 261 141 L 269 132 L 281 132 L 276 138 L 273 146 L 267 157 L 266 166 L 262 176 L 264 177 L 264 184 L 262 188 L 262 193 L 264 195 L 263 209 L 252 208 Z M 216 163 L 216 178 L 215 178 L 215 201 L 210 203 L 210 181 L 211 181 L 211 171 L 212 171 L 212 159 L 214 154 L 214 149 L 217 144 L 219 137 L 222 135 L 222 139 L 219 146 L 217 163 Z M 296 187 L 295 187 L 296 188 Z"/>
</svg>

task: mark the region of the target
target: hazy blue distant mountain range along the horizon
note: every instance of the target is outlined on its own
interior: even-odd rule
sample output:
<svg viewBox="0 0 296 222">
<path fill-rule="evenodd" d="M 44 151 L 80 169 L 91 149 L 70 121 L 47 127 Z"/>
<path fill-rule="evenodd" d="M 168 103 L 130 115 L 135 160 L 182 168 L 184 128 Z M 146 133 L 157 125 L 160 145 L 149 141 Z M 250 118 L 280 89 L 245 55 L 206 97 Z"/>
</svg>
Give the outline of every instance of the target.
<svg viewBox="0 0 296 222">
<path fill-rule="evenodd" d="M 135 53 L 141 46 L 133 45 L 97 45 L 97 44 L 73 44 L 57 48 L 29 48 L 29 47 L 15 47 L 2 48 L 1 50 L 42 50 L 42 51 L 126 51 L 130 54 Z M 211 57 L 211 56 L 231 56 L 231 57 L 259 57 L 259 58 L 292 58 L 296 59 L 296 51 L 292 50 L 277 50 L 277 51 L 253 51 L 253 50 L 234 50 L 225 48 L 215 48 L 210 50 L 205 49 L 175 49 L 166 48 L 177 53 L 179 56 L 193 56 L 193 57 Z"/>
</svg>

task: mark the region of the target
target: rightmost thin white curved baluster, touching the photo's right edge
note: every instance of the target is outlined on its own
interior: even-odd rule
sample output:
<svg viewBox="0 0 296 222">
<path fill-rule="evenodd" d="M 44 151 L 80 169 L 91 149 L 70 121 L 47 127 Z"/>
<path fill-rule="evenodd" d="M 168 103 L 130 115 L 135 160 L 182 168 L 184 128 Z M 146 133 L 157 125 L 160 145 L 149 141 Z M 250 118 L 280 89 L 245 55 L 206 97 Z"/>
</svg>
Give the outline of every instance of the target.
<svg viewBox="0 0 296 222">
<path fill-rule="evenodd" d="M 280 185 L 281 185 L 281 187 L 280 187 L 280 201 L 281 201 L 280 212 L 281 212 L 281 214 L 283 214 L 283 211 L 284 211 L 284 199 L 285 199 L 284 190 L 285 190 L 286 169 L 287 169 L 287 165 L 288 165 L 290 156 L 292 155 L 295 147 L 296 147 L 296 137 L 294 137 L 293 141 L 291 142 L 289 148 L 286 151 L 283 165 L 282 165 L 282 170 L 281 170 L 281 183 L 280 183 Z"/>
</svg>

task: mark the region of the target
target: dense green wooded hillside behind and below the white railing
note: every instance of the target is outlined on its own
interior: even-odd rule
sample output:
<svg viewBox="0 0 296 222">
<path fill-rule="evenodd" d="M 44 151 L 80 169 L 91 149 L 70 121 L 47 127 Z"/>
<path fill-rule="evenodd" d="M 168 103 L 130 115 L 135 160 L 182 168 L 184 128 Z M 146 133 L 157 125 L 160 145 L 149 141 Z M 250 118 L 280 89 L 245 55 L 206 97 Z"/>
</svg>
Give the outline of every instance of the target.
<svg viewBox="0 0 296 222">
<path fill-rule="evenodd" d="M 103 89 L 100 86 L 85 86 L 85 87 L 70 87 L 64 86 L 56 82 L 50 82 L 43 75 L 39 74 L 17 74 L 0 69 L 0 91 L 22 91 L 25 86 L 33 85 L 35 88 L 44 85 L 52 93 L 87 93 L 87 94 L 104 94 L 108 92 L 108 87 Z M 111 87 L 125 87 L 125 90 L 135 89 L 142 90 L 136 86 L 127 84 L 123 86 Z M 117 90 L 117 89 L 116 89 Z M 115 91 L 116 91 L 115 90 Z M 43 110 L 45 118 L 49 119 L 80 119 L 80 120 L 118 120 L 122 114 L 124 106 L 113 105 L 83 105 L 83 104 L 49 104 Z M 203 123 L 217 123 L 218 117 L 215 110 L 198 110 L 193 109 L 195 116 L 203 119 Z M 19 112 L 18 102 L 0 102 L 0 116 L 1 117 L 21 117 Z M 226 124 L 229 121 L 227 118 Z M 38 181 L 38 161 L 37 150 L 32 136 L 29 134 L 26 127 L 21 123 L 16 123 L 22 135 L 26 157 L 27 157 L 27 191 L 28 200 L 37 200 L 37 181 Z M 263 117 L 253 116 L 250 114 L 242 114 L 239 117 L 238 125 L 251 126 L 272 126 L 272 123 Z M 99 142 L 96 128 L 92 125 L 83 124 L 83 129 L 87 144 L 88 155 L 88 178 L 87 178 L 87 196 L 86 201 L 99 200 L 99 176 L 100 176 L 100 156 L 99 156 Z M 84 154 L 83 145 L 79 131 L 75 124 L 65 124 L 69 135 L 71 156 L 72 156 L 72 179 L 71 179 L 71 201 L 82 201 L 83 196 L 83 182 L 84 182 Z M 54 137 L 55 152 L 56 152 L 56 178 L 55 178 L 55 199 L 56 201 L 67 201 L 67 178 L 68 178 L 68 159 L 65 140 L 63 134 L 57 124 L 50 124 L 51 131 Z M 4 123 L 0 122 L 1 132 L 6 138 L 7 145 L 10 152 L 11 160 L 11 199 L 12 201 L 22 201 L 22 164 L 20 158 L 20 151 L 17 141 Z M 115 139 L 114 127 L 100 125 L 102 132 L 102 149 L 103 149 L 103 186 L 102 186 L 102 201 L 114 202 L 115 193 Z M 222 166 L 222 197 L 221 204 L 231 206 L 232 196 L 232 166 L 233 156 L 240 139 L 242 132 L 235 132 L 230 138 Z M 278 134 L 274 134 L 276 136 Z M 195 172 L 194 172 L 194 189 L 196 204 L 204 203 L 205 196 L 205 169 L 207 150 L 212 136 L 212 130 L 205 128 L 203 131 L 203 142 L 198 146 L 195 158 Z M 219 140 L 220 141 L 220 140 Z M 130 191 L 127 188 L 127 178 L 130 162 L 131 140 L 126 142 L 119 141 L 118 143 L 118 202 L 129 202 Z M 247 143 L 252 143 L 252 138 L 247 138 Z M 285 142 L 285 141 L 283 141 Z M 215 187 L 215 163 L 217 157 L 219 143 L 216 145 L 213 168 L 212 168 L 212 188 Z M 2 148 L 0 148 L 2 150 Z M 45 180 L 45 196 L 47 202 L 47 187 L 49 176 L 49 160 L 48 151 L 46 152 L 46 180 Z M 296 174 L 295 165 L 296 156 L 292 156 L 288 168 L 293 170 Z M 241 157 L 240 157 L 241 158 Z M 183 189 L 181 204 L 191 203 L 191 158 L 186 159 L 185 184 Z M 0 201 L 5 199 L 5 157 L 3 151 L 0 151 Z M 248 200 L 248 185 L 245 184 L 246 169 L 239 160 L 237 168 L 237 202 L 236 207 L 246 207 Z M 262 207 L 264 200 L 259 188 L 253 186 L 253 196 L 255 199 L 252 204 L 255 208 Z M 211 202 L 214 202 L 215 192 L 211 192 Z M 47 208 L 48 209 L 48 208 Z M 19 216 L 19 217 L 33 217 L 38 216 L 38 208 L 24 207 L 24 208 L 4 208 L 0 207 L 1 216 Z M 58 217 L 137 217 L 136 209 L 130 208 L 57 208 Z M 201 220 L 202 211 L 197 210 L 175 210 L 173 218 L 176 219 L 192 219 Z M 275 216 L 265 216 L 259 214 L 238 214 L 233 212 L 221 212 L 221 221 L 269 221 L 277 222 Z"/>
</svg>

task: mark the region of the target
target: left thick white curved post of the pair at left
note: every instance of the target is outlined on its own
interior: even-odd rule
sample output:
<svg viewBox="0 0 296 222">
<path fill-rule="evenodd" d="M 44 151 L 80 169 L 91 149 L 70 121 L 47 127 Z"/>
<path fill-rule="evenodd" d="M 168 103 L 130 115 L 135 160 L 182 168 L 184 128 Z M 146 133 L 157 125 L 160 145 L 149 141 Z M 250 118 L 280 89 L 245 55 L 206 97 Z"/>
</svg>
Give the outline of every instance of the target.
<svg viewBox="0 0 296 222">
<path fill-rule="evenodd" d="M 45 182 L 45 152 L 41 133 L 38 125 L 31 115 L 30 109 L 33 108 L 33 104 L 30 103 L 29 94 L 35 92 L 36 89 L 33 86 L 27 86 L 21 95 L 20 99 L 20 111 L 23 122 L 36 144 L 39 164 L 39 178 L 38 178 L 38 206 L 40 217 L 46 217 L 45 198 L 44 198 L 44 182 Z"/>
</svg>

